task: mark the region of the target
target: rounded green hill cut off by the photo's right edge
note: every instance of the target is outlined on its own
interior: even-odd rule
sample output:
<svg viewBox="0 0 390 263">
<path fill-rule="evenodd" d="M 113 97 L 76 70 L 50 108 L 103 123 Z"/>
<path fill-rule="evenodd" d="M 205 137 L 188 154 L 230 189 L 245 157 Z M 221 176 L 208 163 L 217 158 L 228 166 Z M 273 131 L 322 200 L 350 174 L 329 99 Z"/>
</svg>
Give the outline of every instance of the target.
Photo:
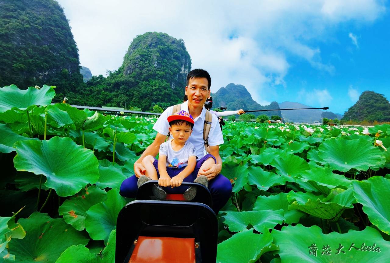
<svg viewBox="0 0 390 263">
<path fill-rule="evenodd" d="M 390 104 L 382 94 L 365 91 L 359 100 L 351 108 L 344 113 L 343 120 L 362 121 L 367 120 L 373 122 L 389 122 L 390 121 Z"/>
</svg>

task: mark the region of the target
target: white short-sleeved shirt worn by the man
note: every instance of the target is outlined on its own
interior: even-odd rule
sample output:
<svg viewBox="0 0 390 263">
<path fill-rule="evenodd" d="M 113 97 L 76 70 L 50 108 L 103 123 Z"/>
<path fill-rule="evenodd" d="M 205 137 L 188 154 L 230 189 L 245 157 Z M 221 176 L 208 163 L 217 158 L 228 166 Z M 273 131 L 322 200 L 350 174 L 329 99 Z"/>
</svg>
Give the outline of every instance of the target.
<svg viewBox="0 0 390 263">
<path fill-rule="evenodd" d="M 154 124 L 153 129 L 163 135 L 167 135 L 169 131 L 169 123 L 168 123 L 168 116 L 172 115 L 172 109 L 173 106 L 168 107 L 165 109 L 165 111 L 161 114 L 161 116 L 158 118 L 156 124 Z M 181 104 L 181 110 L 188 112 L 188 102 L 184 102 Z M 211 129 L 209 132 L 209 145 L 210 146 L 216 146 L 223 144 L 223 136 L 222 131 L 220 129 L 219 121 L 217 116 L 212 114 L 213 120 L 211 122 Z M 196 150 L 197 150 L 197 156 L 202 158 L 204 155 L 206 155 L 206 150 L 204 149 L 204 140 L 203 140 L 203 127 L 204 127 L 204 120 L 206 118 L 206 109 L 202 109 L 202 113 L 198 117 L 194 119 L 194 127 L 192 130 L 192 134 L 188 141 L 192 143 Z M 172 135 L 170 136 L 172 139 Z"/>
</svg>

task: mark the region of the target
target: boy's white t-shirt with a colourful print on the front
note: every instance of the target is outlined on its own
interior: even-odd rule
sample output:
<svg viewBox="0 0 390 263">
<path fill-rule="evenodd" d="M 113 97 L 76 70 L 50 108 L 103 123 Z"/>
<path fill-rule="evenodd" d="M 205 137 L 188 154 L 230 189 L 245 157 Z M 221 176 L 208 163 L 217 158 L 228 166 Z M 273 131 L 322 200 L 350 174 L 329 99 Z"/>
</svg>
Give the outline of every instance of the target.
<svg viewBox="0 0 390 263">
<path fill-rule="evenodd" d="M 160 145 L 160 155 L 167 155 L 168 168 L 183 168 L 188 165 L 188 158 L 190 156 L 196 157 L 196 148 L 192 143 L 186 141 L 183 148 L 178 151 L 172 149 L 172 140 L 168 140 Z"/>
</svg>

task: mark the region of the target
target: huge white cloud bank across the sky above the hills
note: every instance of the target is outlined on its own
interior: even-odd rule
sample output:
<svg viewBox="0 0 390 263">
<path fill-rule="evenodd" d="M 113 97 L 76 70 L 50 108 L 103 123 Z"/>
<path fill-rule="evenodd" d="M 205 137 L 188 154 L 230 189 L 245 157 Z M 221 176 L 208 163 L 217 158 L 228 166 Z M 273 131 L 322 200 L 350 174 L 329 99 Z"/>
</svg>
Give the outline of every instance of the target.
<svg viewBox="0 0 390 263">
<path fill-rule="evenodd" d="M 137 35 L 165 32 L 184 39 L 192 68 L 210 72 L 212 92 L 233 82 L 245 85 L 261 104 L 278 101 L 276 86 L 288 87 L 284 77 L 292 56 L 319 71 L 337 71 L 323 62 L 314 43 L 333 37 L 339 23 L 372 21 L 384 12 L 373 0 L 58 2 L 70 21 L 80 64 L 92 74 L 118 69 Z"/>
</svg>

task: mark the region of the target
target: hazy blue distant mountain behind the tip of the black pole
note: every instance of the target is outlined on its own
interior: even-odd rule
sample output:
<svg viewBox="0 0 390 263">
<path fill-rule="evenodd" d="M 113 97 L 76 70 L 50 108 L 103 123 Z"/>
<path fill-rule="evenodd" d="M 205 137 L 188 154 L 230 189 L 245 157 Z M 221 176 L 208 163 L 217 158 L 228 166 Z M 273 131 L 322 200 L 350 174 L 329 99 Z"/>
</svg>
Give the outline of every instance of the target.
<svg viewBox="0 0 390 263">
<path fill-rule="evenodd" d="M 279 107 L 281 109 L 314 108 L 312 106 L 307 106 L 305 104 L 301 104 L 298 102 L 291 102 L 291 101 L 284 101 L 282 103 L 279 103 Z M 308 123 L 320 122 L 321 123 L 322 122 L 321 114 L 329 111 L 323 111 L 321 109 L 294 109 L 294 110 L 287 110 L 281 112 L 282 112 L 282 118 L 285 122 L 308 122 Z M 337 116 L 338 119 L 342 118 L 341 114 L 338 113 L 332 113 L 332 114 Z"/>
</svg>

